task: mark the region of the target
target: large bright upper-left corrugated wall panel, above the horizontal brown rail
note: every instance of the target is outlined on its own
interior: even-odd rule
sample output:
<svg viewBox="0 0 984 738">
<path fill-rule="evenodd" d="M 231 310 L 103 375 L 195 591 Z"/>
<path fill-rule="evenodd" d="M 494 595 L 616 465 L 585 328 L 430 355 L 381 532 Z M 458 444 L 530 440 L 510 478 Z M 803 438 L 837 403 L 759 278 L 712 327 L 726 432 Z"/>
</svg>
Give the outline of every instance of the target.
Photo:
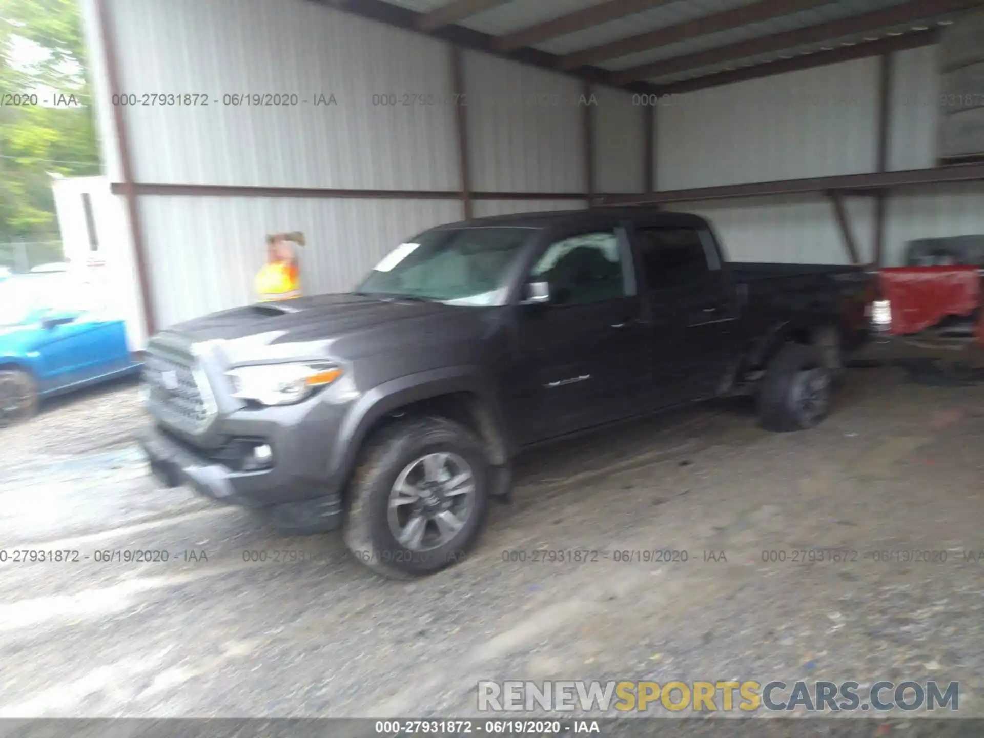
<svg viewBox="0 0 984 738">
<path fill-rule="evenodd" d="M 447 44 L 301 0 L 112 7 L 123 92 L 208 100 L 126 108 L 138 181 L 458 188 Z M 266 93 L 297 104 L 253 104 Z"/>
</svg>

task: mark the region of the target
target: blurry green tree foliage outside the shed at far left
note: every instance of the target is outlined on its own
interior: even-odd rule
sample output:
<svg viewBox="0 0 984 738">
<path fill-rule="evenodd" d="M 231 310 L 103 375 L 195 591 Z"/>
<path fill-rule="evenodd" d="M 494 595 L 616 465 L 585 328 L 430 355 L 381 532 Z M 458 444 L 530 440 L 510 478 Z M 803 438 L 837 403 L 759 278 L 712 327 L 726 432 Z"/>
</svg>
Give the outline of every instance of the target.
<svg viewBox="0 0 984 738">
<path fill-rule="evenodd" d="M 31 93 L 0 106 L 0 242 L 57 239 L 49 172 L 99 173 L 77 0 L 0 0 L 0 94 Z"/>
</svg>

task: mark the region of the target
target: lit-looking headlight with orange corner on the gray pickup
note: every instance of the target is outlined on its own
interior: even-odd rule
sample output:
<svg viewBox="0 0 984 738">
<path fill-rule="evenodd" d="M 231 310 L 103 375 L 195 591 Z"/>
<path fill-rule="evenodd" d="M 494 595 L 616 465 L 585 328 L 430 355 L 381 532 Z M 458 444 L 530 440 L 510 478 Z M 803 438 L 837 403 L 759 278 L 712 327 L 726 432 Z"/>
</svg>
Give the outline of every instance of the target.
<svg viewBox="0 0 984 738">
<path fill-rule="evenodd" d="M 241 366 L 225 373 L 232 397 L 266 405 L 300 402 L 342 374 L 337 364 L 304 362 Z"/>
</svg>

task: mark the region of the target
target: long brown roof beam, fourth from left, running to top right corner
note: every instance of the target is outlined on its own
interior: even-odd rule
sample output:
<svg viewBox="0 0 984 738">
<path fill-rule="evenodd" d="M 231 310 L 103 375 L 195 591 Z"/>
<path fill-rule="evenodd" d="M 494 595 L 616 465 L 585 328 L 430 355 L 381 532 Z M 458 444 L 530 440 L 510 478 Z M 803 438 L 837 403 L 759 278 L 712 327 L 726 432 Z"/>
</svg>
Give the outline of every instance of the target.
<svg viewBox="0 0 984 738">
<path fill-rule="evenodd" d="M 830 23 L 810 26 L 796 31 L 786 31 L 761 38 L 752 38 L 726 46 L 675 56 L 669 59 L 643 64 L 612 75 L 615 85 L 646 80 L 653 77 L 689 72 L 714 64 L 746 59 L 760 54 L 770 54 L 811 43 L 823 43 L 845 36 L 872 31 L 882 31 L 896 26 L 925 21 L 967 8 L 984 6 L 984 0 L 913 0 L 885 10 L 844 18 Z"/>
</svg>

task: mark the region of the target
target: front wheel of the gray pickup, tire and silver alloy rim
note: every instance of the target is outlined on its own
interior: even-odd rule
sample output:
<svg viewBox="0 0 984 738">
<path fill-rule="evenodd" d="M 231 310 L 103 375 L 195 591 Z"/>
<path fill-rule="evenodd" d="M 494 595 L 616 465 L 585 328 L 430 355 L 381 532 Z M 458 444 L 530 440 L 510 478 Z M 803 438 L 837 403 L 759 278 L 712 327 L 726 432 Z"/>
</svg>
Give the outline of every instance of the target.
<svg viewBox="0 0 984 738">
<path fill-rule="evenodd" d="M 345 544 L 391 579 L 439 572 L 477 538 L 490 483 L 467 428 L 438 417 L 398 421 L 370 440 L 353 475 Z"/>
</svg>

